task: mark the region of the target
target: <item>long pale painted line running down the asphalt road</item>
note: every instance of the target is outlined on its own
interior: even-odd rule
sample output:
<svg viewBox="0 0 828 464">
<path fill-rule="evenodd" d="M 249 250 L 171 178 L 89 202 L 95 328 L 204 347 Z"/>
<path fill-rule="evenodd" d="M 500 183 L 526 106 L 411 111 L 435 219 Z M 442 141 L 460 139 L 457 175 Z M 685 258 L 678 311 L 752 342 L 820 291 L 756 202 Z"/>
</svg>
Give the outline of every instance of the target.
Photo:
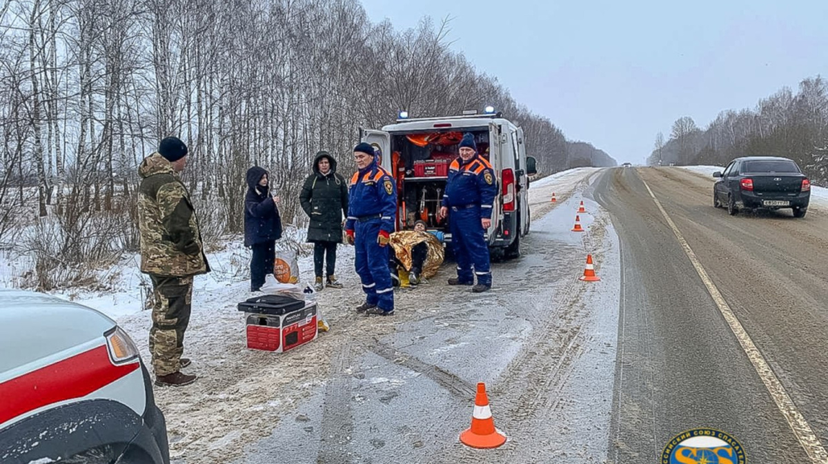
<svg viewBox="0 0 828 464">
<path fill-rule="evenodd" d="M 733 331 L 736 339 L 739 340 L 739 344 L 742 345 L 744 353 L 748 355 L 748 359 L 751 364 L 753 364 L 753 369 L 756 370 L 759 378 L 762 379 L 765 384 L 765 388 L 768 389 L 768 393 L 770 393 L 773 401 L 777 404 L 777 408 L 782 412 L 785 419 L 787 419 L 787 423 L 791 427 L 793 434 L 797 436 L 799 444 L 802 445 L 802 448 L 805 450 L 808 457 L 811 457 L 811 462 L 816 464 L 828 464 L 828 452 L 826 452 L 826 448 L 822 446 L 819 438 L 816 437 L 816 433 L 814 433 L 811 425 L 808 424 L 805 417 L 799 412 L 797 405 L 793 403 L 793 400 L 790 395 L 787 394 L 785 387 L 782 386 L 782 382 L 779 381 L 776 374 L 773 373 L 771 366 L 768 365 L 768 361 L 765 361 L 762 353 L 760 353 L 756 345 L 753 344 L 753 340 L 751 340 L 748 332 L 744 330 L 742 323 L 740 323 L 739 319 L 736 318 L 736 315 L 733 313 L 733 310 L 730 309 L 727 301 L 724 300 L 724 297 L 719 292 L 719 289 L 717 289 L 713 284 L 713 281 L 710 280 L 710 276 L 707 275 L 707 271 L 705 271 L 705 268 L 701 266 L 698 258 L 696 258 L 696 253 L 691 250 L 690 245 L 687 244 L 687 241 L 681 235 L 681 232 L 679 232 L 678 227 L 676 227 L 676 223 L 672 222 L 670 216 L 667 215 L 667 211 L 664 210 L 662 203 L 658 201 L 656 195 L 652 193 L 652 190 L 650 189 L 650 186 L 647 185 L 647 182 L 644 182 L 644 179 L 641 179 L 641 181 L 643 182 L 644 187 L 647 187 L 647 192 L 650 193 L 652 201 L 654 201 L 658 209 L 661 210 L 662 215 L 667 220 L 667 224 L 669 224 L 670 228 L 672 228 L 673 233 L 676 234 L 678 242 L 681 243 L 681 247 L 684 248 L 687 257 L 690 258 L 690 262 L 693 267 L 696 268 L 696 272 L 699 274 L 701 281 L 704 282 L 705 287 L 707 287 L 707 291 L 710 293 L 710 296 L 713 298 L 716 306 L 719 307 L 719 311 L 722 313 L 722 316 L 724 316 L 724 320 L 729 324 L 730 330 Z"/>
</svg>

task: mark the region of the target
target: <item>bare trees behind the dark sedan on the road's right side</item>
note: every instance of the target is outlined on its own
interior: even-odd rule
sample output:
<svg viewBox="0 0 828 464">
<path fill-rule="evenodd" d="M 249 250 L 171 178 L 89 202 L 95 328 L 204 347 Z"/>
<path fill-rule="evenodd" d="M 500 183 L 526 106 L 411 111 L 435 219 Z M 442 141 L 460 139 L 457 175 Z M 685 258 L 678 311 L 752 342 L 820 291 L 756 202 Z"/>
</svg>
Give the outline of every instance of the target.
<svg viewBox="0 0 828 464">
<path fill-rule="evenodd" d="M 811 181 L 828 185 L 828 83 L 803 79 L 797 93 L 782 88 L 753 109 L 727 110 L 701 129 L 691 117 L 673 122 L 667 141 L 659 132 L 649 165 L 727 165 L 739 156 L 784 156 Z"/>
</svg>

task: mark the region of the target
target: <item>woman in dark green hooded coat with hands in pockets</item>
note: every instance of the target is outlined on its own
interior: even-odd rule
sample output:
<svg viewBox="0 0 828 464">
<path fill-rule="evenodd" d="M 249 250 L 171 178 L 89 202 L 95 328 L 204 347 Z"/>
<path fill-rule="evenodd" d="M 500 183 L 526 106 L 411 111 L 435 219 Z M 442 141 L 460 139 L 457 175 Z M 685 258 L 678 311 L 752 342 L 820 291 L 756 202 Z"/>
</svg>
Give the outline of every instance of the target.
<svg viewBox="0 0 828 464">
<path fill-rule="evenodd" d="M 341 289 L 335 274 L 336 246 L 342 242 L 342 219 L 348 217 L 348 183 L 336 173 L 336 160 L 327 151 L 316 154 L 313 174 L 305 179 L 299 201 L 310 218 L 308 242 L 314 243 L 314 287 L 316 291 L 324 288 L 322 267 L 327 255 L 326 285 Z"/>
</svg>

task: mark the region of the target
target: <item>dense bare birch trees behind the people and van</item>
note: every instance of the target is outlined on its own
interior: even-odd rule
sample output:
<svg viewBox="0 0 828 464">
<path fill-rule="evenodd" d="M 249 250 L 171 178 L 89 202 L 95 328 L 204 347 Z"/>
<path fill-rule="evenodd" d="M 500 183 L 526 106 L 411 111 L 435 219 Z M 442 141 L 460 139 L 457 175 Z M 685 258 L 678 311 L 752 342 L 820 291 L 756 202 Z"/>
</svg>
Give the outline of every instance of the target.
<svg viewBox="0 0 828 464">
<path fill-rule="evenodd" d="M 541 170 L 584 162 L 449 33 L 429 18 L 395 31 L 357 0 L 0 0 L 0 242 L 33 225 L 55 243 L 24 251 L 65 262 L 136 250 L 137 165 L 171 135 L 189 146 L 208 242 L 242 227 L 249 166 L 271 170 L 284 218 L 301 221 L 316 151 L 347 172 L 359 127 L 401 109 L 491 104 Z"/>
</svg>

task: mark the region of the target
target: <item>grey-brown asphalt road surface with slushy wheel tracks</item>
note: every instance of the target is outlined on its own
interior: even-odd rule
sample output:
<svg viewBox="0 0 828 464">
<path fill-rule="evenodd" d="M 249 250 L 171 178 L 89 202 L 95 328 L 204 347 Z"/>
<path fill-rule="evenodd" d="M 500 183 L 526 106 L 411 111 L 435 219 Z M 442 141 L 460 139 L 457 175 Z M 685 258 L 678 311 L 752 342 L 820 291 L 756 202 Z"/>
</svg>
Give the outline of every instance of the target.
<svg viewBox="0 0 828 464">
<path fill-rule="evenodd" d="M 822 462 L 806 455 L 644 183 L 821 446 L 828 443 L 826 212 L 730 217 L 713 208 L 711 179 L 616 169 L 595 185 L 622 253 L 609 461 L 656 462 L 672 435 L 704 426 L 738 438 L 748 462 Z"/>
</svg>

